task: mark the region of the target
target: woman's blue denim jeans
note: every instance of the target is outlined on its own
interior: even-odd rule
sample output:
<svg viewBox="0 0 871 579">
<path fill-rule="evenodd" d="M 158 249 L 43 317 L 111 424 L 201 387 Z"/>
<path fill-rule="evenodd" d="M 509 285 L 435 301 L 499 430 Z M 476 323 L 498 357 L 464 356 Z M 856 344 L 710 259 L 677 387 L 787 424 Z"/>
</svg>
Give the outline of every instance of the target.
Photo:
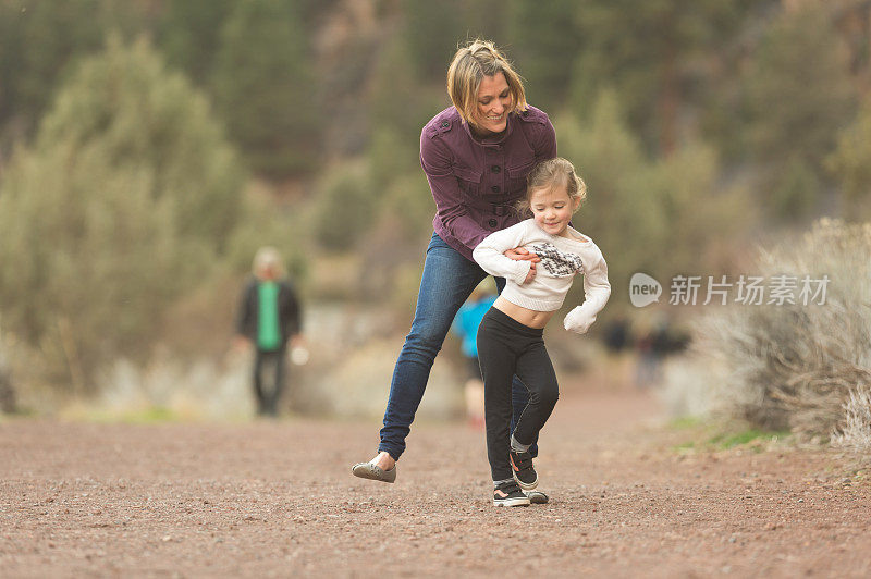
<svg viewBox="0 0 871 579">
<path fill-rule="evenodd" d="M 432 234 L 420 278 L 415 319 L 393 370 L 381 444 L 378 445 L 379 452 L 387 451 L 394 460 L 398 460 L 405 451 L 405 436 L 410 431 L 432 362 L 442 348 L 454 316 L 484 278 L 487 272 L 480 266 Z M 495 281 L 501 293 L 505 280 L 496 278 Z M 528 402 L 529 391 L 515 375 L 512 382 L 512 432 Z M 538 455 L 536 442 L 532 441 L 530 447 L 532 456 Z"/>
</svg>

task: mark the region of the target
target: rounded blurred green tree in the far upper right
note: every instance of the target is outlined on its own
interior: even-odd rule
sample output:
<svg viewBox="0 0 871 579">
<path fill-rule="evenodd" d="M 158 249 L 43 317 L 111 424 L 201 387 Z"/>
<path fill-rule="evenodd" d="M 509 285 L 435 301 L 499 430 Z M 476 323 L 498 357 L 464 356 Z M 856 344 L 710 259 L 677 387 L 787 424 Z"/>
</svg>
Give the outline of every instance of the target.
<svg viewBox="0 0 871 579">
<path fill-rule="evenodd" d="M 760 165 L 760 188 L 771 192 L 761 200 L 772 217 L 810 215 L 827 180 L 824 159 L 858 102 L 831 14 L 810 3 L 780 14 L 743 82 L 748 150 Z"/>
</svg>

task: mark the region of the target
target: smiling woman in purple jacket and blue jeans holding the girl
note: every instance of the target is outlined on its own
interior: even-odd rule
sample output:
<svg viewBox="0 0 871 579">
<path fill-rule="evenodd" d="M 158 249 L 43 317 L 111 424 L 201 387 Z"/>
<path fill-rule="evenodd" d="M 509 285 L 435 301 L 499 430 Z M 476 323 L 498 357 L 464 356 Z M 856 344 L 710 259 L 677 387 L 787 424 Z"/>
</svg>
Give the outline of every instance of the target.
<svg viewBox="0 0 871 579">
<path fill-rule="evenodd" d="M 357 477 L 383 482 L 396 479 L 396 460 L 454 315 L 487 276 L 471 259 L 473 249 L 519 221 L 512 207 L 526 189 L 527 174 L 556 157 L 548 115 L 527 104 L 520 77 L 492 42 L 475 40 L 457 50 L 447 71 L 447 93 L 453 106 L 420 135 L 420 164 L 437 214 L 414 322 L 393 372 L 378 455 L 353 468 Z M 532 261 L 535 272 L 535 254 L 513 249 L 505 255 Z M 498 278 L 500 292 L 504 285 Z M 512 430 L 528 399 L 515 377 Z M 535 445 L 530 452 L 536 456 Z"/>
</svg>

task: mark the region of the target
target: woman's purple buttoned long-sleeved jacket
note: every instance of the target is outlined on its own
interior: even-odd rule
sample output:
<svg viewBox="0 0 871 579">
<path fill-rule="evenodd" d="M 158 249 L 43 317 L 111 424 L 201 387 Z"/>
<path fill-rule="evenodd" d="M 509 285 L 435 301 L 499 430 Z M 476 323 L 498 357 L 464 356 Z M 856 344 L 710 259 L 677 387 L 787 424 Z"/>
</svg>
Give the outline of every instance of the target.
<svg viewBox="0 0 871 579">
<path fill-rule="evenodd" d="M 495 138 L 473 138 L 468 123 L 450 107 L 420 133 L 420 165 L 427 174 L 444 242 L 471 260 L 471 250 L 494 231 L 520 221 L 514 204 L 532 168 L 556 157 L 556 134 L 548 115 L 527 106 L 508 115 Z"/>
</svg>

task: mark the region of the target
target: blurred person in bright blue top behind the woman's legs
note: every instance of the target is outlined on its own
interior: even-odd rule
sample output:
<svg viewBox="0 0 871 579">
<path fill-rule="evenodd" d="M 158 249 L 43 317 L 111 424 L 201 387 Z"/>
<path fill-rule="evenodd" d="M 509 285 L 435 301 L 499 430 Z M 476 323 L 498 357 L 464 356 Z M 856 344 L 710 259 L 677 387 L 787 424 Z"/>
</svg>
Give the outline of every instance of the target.
<svg viewBox="0 0 871 579">
<path fill-rule="evenodd" d="M 456 312 L 451 329 L 462 341 L 468 380 L 465 385 L 466 419 L 473 428 L 483 428 L 483 377 L 478 361 L 478 327 L 496 296 L 484 280 Z"/>
</svg>

